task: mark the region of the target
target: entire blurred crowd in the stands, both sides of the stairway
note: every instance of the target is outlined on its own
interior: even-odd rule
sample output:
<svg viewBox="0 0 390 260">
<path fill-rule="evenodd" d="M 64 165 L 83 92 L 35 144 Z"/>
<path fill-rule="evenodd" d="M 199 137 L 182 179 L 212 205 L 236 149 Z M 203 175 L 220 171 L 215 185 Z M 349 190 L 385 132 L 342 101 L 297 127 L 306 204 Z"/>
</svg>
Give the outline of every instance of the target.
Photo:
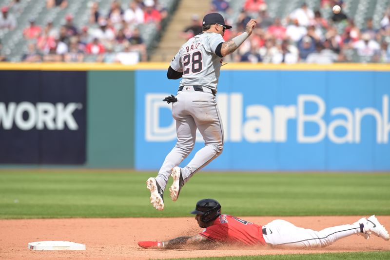
<svg viewBox="0 0 390 260">
<path fill-rule="evenodd" d="M 12 0 L 1 8 L 0 30 L 13 30 L 18 26 L 15 14 L 21 13 L 20 1 Z M 352 17 L 343 11 L 325 19 L 322 12 L 333 5 L 342 6 L 342 0 L 318 0 L 320 9 L 312 10 L 306 3 L 286 17 L 273 17 L 268 13 L 265 0 L 246 0 L 237 19 L 231 20 L 229 0 L 211 0 L 208 12 L 219 12 L 234 27 L 226 30 L 228 40 L 242 32 L 245 24 L 254 18 L 258 21 L 250 40 L 237 52 L 227 57 L 236 62 L 264 63 L 332 63 L 332 62 L 390 62 L 390 7 L 385 11 L 380 27 L 372 18 L 358 28 Z M 46 8 L 66 9 L 67 0 L 47 0 Z M 132 63 L 147 61 L 148 53 L 138 25 L 161 21 L 168 12 L 158 0 L 129 0 L 127 8 L 112 0 L 107 14 L 101 13 L 98 2 L 91 1 L 88 24 L 78 28 L 72 14 L 59 28 L 47 21 L 41 28 L 34 19 L 23 31 L 28 50 L 22 60 L 28 62 L 66 61 L 80 62 L 86 55 L 95 55 L 100 62 Z M 184 39 L 201 32 L 201 19 L 194 15 L 191 24 L 180 36 Z M 342 31 L 340 31 L 342 28 Z M 1 50 L 1 43 L 0 43 Z M 0 52 L 1 53 L 1 52 Z M 0 61 L 7 57 L 0 54 Z"/>
</svg>

